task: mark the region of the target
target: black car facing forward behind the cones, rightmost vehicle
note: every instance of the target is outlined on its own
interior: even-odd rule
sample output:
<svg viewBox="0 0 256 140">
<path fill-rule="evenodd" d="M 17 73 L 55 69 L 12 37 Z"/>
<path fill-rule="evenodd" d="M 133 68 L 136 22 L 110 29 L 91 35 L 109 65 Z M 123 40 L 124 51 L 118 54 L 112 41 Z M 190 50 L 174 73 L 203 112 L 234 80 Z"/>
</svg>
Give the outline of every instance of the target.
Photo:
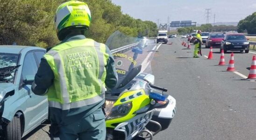
<svg viewBox="0 0 256 140">
<path fill-rule="evenodd" d="M 228 50 L 249 53 L 248 40 L 243 34 L 227 34 L 221 41 L 220 51 L 223 49 L 224 53 Z"/>
</svg>

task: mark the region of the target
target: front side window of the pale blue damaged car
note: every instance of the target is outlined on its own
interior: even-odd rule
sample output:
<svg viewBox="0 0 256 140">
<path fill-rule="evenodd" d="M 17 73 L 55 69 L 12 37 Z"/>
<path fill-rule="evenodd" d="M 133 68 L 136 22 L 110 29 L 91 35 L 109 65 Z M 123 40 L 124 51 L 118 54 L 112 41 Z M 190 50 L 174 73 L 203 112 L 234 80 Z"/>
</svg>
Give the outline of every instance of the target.
<svg viewBox="0 0 256 140">
<path fill-rule="evenodd" d="M 29 52 L 24 59 L 22 66 L 22 79 L 26 79 L 26 76 L 35 76 L 37 72 L 36 60 L 33 52 Z"/>
</svg>

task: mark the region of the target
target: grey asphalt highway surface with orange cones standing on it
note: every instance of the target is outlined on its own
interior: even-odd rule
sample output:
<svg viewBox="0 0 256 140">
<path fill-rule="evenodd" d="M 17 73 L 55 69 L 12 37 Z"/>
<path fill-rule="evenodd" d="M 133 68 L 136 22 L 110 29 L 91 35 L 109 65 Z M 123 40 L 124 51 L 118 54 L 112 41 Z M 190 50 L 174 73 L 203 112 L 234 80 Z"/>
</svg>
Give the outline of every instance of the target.
<svg viewBox="0 0 256 140">
<path fill-rule="evenodd" d="M 170 42 L 160 46 L 151 68 L 155 84 L 168 88 L 168 94 L 176 98 L 177 113 L 171 126 L 154 139 L 255 140 L 256 83 L 226 72 L 228 66 L 217 66 L 219 49 L 213 49 L 213 60 L 206 59 L 209 49 L 204 48 L 203 56 L 192 58 L 194 46 L 186 49 L 178 38 Z M 230 54 L 225 54 L 227 65 Z M 246 77 L 253 55 L 235 53 L 235 69 Z M 22 140 L 49 140 L 41 128 Z"/>
</svg>

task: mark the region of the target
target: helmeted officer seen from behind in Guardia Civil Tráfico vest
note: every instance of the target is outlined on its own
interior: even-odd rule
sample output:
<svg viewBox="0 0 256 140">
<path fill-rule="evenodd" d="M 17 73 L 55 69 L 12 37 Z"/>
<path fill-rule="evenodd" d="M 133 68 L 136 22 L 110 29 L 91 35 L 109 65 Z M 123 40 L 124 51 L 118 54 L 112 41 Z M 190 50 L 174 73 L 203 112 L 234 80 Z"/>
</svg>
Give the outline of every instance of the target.
<svg viewBox="0 0 256 140">
<path fill-rule="evenodd" d="M 105 44 L 85 38 L 91 13 L 84 2 L 71 0 L 56 11 L 61 43 L 41 59 L 32 84 L 37 95 L 47 95 L 50 136 L 60 140 L 105 140 L 106 86 L 117 83 L 114 58 Z"/>
</svg>

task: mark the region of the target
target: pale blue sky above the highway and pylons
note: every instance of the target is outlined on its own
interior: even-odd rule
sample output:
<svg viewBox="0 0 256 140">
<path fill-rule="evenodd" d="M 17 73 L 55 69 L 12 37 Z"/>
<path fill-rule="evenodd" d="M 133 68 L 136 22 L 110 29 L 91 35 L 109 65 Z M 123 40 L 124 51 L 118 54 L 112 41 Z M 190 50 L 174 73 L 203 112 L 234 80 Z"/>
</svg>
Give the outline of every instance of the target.
<svg viewBox="0 0 256 140">
<path fill-rule="evenodd" d="M 206 23 L 206 8 L 211 8 L 209 22 L 238 22 L 256 12 L 256 0 L 112 0 L 124 14 L 143 21 L 167 23 L 192 20 Z"/>
</svg>

